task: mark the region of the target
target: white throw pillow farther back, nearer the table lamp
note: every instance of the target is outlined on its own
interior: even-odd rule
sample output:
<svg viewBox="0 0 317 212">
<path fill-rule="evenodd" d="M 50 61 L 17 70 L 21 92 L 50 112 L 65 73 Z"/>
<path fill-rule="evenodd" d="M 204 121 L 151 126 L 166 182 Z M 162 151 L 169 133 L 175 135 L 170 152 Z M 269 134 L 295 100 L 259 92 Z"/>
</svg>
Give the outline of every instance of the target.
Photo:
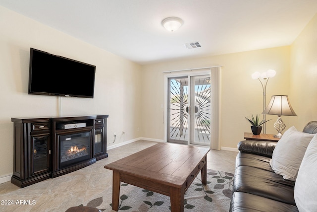
<svg viewBox="0 0 317 212">
<path fill-rule="evenodd" d="M 273 171 L 282 175 L 285 180 L 295 181 L 306 148 L 314 136 L 300 132 L 294 126 L 285 131 L 269 161 Z"/>
</svg>

